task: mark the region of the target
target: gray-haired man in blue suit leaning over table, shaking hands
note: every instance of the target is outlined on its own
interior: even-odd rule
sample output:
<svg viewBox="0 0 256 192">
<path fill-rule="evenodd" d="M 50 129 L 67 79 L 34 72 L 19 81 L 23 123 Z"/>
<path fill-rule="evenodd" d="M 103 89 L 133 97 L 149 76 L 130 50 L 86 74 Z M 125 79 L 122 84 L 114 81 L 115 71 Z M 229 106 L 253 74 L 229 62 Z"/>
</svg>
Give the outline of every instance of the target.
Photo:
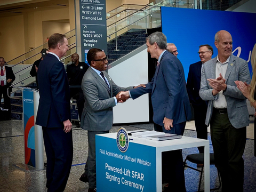
<svg viewBox="0 0 256 192">
<path fill-rule="evenodd" d="M 151 93 L 155 131 L 183 135 L 191 109 L 181 62 L 166 51 L 166 36 L 156 32 L 147 37 L 148 52 L 158 60 L 155 76 L 146 87 L 121 92 L 132 99 Z M 181 150 L 162 155 L 162 167 L 169 173 L 169 187 L 165 191 L 186 191 Z"/>
</svg>

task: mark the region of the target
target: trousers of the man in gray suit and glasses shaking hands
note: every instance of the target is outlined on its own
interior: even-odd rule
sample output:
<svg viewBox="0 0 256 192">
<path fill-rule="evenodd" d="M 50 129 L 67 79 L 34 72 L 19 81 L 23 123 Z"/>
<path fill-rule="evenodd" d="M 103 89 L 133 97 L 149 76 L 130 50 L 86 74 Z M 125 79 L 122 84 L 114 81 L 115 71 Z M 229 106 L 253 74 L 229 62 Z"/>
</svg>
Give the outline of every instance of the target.
<svg viewBox="0 0 256 192">
<path fill-rule="evenodd" d="M 85 164 L 85 173 L 87 173 L 89 188 L 96 188 L 96 154 L 95 154 L 95 135 L 109 133 L 109 131 L 88 131 L 88 158 Z"/>
</svg>

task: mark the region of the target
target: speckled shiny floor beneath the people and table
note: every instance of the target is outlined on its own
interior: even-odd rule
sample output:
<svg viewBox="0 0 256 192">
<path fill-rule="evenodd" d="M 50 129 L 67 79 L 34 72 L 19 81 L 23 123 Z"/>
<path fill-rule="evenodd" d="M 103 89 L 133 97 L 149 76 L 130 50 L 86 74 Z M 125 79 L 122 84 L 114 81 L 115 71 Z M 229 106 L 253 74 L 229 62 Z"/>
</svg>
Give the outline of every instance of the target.
<svg viewBox="0 0 256 192">
<path fill-rule="evenodd" d="M 253 127 L 253 124 L 250 125 Z M 23 140 L 22 121 L 2 121 L 0 122 L 0 191 L 46 191 L 45 188 L 45 170 L 41 171 L 24 171 L 17 167 L 24 162 L 24 140 Z M 116 132 L 120 126 L 114 126 L 111 132 Z M 139 129 L 153 129 L 153 124 L 123 126 L 127 131 Z M 187 122 L 185 135 L 196 137 L 193 131 L 194 121 Z M 249 136 L 251 138 L 253 132 L 249 127 Z M 248 132 L 248 131 L 247 131 Z M 210 152 L 213 152 L 210 133 Z M 69 175 L 69 180 L 65 191 L 81 191 L 88 190 L 88 184 L 79 181 L 80 175 L 84 172 L 84 163 L 87 158 L 87 132 L 80 128 L 73 128 L 74 158 L 73 166 Z M 185 158 L 189 154 L 198 153 L 197 148 L 183 149 L 182 154 Z M 244 191 L 256 191 L 256 157 L 254 153 L 254 140 L 247 139 L 244 153 L 245 176 Z M 45 158 L 45 155 L 44 155 Z M 46 159 L 45 159 L 46 160 Z M 188 165 L 196 167 L 195 164 Z M 219 185 L 217 178 L 217 170 L 214 165 L 210 166 L 211 188 Z M 187 191 L 197 191 L 199 183 L 199 172 L 191 169 L 185 170 L 186 189 Z M 234 183 L 235 185 L 235 183 Z M 203 190 L 202 183 L 201 190 Z M 218 190 L 221 191 L 221 190 Z M 101 192 L 101 191 L 99 191 Z M 148 191 L 146 191 L 148 192 Z"/>
</svg>

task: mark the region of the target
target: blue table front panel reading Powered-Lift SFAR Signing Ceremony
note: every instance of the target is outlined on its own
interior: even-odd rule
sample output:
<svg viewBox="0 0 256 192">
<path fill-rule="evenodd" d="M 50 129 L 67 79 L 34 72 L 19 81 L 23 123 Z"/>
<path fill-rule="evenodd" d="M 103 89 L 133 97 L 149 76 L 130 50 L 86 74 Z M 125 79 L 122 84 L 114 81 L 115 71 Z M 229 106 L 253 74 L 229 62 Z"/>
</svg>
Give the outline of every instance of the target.
<svg viewBox="0 0 256 192">
<path fill-rule="evenodd" d="M 122 153 L 116 139 L 95 139 L 97 191 L 156 191 L 156 148 L 130 142 Z"/>
</svg>

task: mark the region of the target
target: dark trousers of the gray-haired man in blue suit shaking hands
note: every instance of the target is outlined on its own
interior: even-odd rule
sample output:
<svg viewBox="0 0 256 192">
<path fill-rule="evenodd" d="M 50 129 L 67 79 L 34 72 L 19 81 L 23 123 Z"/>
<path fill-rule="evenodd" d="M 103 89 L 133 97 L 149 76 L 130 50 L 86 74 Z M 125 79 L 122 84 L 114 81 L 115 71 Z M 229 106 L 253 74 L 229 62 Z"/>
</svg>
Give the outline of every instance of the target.
<svg viewBox="0 0 256 192">
<path fill-rule="evenodd" d="M 183 135 L 186 122 L 174 125 L 170 131 L 164 126 L 154 124 L 155 131 Z M 181 150 L 165 151 L 162 153 L 162 180 L 169 183 L 169 191 L 186 191 L 183 157 Z"/>
</svg>

